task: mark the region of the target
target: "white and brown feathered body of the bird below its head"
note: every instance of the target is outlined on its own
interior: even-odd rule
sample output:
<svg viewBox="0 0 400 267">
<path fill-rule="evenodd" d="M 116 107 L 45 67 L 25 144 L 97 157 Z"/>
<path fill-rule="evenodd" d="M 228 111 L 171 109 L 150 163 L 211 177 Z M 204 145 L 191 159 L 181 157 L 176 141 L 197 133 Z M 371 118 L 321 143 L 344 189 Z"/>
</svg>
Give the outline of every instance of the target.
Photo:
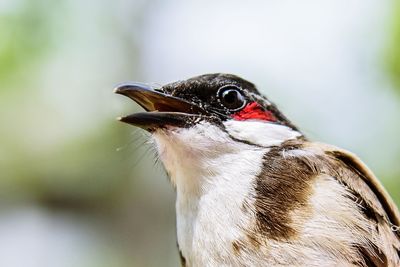
<svg viewBox="0 0 400 267">
<path fill-rule="evenodd" d="M 242 143 L 228 129 L 154 134 L 186 266 L 400 265 L 398 210 L 356 156 L 296 133 Z"/>
</svg>

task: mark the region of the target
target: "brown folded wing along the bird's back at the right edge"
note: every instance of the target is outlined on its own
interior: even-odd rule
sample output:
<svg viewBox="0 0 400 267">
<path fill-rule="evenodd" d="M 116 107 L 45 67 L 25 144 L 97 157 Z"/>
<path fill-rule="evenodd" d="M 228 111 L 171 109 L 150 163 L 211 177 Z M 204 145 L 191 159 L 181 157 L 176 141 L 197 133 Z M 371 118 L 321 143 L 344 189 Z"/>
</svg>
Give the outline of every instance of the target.
<svg viewBox="0 0 400 267">
<path fill-rule="evenodd" d="M 359 199 L 367 216 L 374 217 L 379 235 L 384 236 L 386 251 L 375 247 L 373 251 L 360 248 L 368 266 L 400 265 L 400 213 L 385 188 L 372 171 L 354 154 L 319 143 L 307 145 L 314 151 L 328 155 L 332 160 L 341 162 L 357 175 L 342 175 L 336 177 L 345 184 Z M 358 178 L 358 179 L 357 179 Z M 390 255 L 385 255 L 389 253 Z M 394 260 L 393 260 L 394 259 Z"/>
</svg>

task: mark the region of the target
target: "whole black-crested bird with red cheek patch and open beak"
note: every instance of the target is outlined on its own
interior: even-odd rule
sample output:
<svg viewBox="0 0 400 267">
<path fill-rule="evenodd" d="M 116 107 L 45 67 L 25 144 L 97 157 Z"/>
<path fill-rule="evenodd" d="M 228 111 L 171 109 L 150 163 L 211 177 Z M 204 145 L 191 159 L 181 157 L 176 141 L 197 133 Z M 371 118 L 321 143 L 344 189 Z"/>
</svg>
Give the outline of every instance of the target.
<svg viewBox="0 0 400 267">
<path fill-rule="evenodd" d="M 309 140 L 232 74 L 115 93 L 176 191 L 182 266 L 400 266 L 400 215 L 353 153 Z"/>
</svg>

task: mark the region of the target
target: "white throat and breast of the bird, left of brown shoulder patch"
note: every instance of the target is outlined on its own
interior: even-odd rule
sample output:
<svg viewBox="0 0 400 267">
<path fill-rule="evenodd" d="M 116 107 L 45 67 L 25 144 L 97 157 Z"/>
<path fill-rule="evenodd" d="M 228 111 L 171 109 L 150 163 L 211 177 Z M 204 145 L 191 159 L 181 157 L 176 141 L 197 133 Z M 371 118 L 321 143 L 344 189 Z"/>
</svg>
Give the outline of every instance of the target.
<svg viewBox="0 0 400 267">
<path fill-rule="evenodd" d="M 243 122 L 226 125 L 227 132 L 202 122 L 154 133 L 160 159 L 176 186 L 178 243 L 189 265 L 219 265 L 232 259 L 232 242 L 243 238 L 243 229 L 254 218 L 243 204 L 254 201 L 255 178 L 269 148 L 231 138 L 255 138 L 253 131 L 240 135 L 239 123 Z M 262 144 L 287 140 L 288 134 L 279 140 L 276 131 L 270 131 L 268 142 L 271 127 L 263 125 L 265 131 L 255 129 L 258 135 L 262 131 Z"/>
</svg>

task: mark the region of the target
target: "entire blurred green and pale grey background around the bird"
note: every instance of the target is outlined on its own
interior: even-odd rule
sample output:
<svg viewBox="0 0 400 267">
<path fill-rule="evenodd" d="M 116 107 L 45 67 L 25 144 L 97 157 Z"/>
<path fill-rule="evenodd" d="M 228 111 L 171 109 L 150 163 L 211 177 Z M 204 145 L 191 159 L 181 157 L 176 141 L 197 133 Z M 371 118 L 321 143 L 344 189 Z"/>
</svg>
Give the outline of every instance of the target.
<svg viewBox="0 0 400 267">
<path fill-rule="evenodd" d="M 0 266 L 177 266 L 174 191 L 112 93 L 228 72 L 400 204 L 397 0 L 0 0 Z"/>
</svg>

